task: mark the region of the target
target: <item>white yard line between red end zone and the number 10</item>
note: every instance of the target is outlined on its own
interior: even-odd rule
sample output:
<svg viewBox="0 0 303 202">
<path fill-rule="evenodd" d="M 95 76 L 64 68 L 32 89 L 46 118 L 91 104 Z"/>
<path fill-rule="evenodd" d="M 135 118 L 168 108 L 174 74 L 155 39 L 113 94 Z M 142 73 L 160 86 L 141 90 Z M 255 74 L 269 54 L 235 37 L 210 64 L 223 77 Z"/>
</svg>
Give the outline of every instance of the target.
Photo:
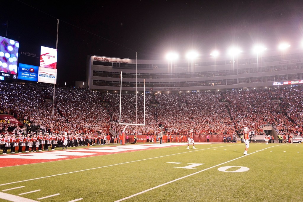
<svg viewBox="0 0 303 202">
<path fill-rule="evenodd" d="M 239 146 L 243 146 L 242 144 L 238 144 Z M 238 146 L 237 145 L 237 146 Z M 219 148 L 219 147 L 225 147 L 225 146 L 235 146 L 234 144 L 231 145 L 224 145 L 224 146 L 217 146 L 217 147 L 211 147 L 211 148 L 205 148 L 205 149 L 197 149 L 197 150 L 191 150 L 191 151 L 186 151 L 186 152 L 182 152 L 182 153 L 175 153 L 175 154 L 169 154 L 169 155 L 165 155 L 165 156 L 160 156 L 160 157 L 152 157 L 152 158 L 148 158 L 148 159 L 141 159 L 141 160 L 135 160 L 135 161 L 128 161 L 128 162 L 124 162 L 124 163 L 117 163 L 117 164 L 112 164 L 112 165 L 108 165 L 108 166 L 101 166 L 101 167 L 96 167 L 96 168 L 89 168 L 89 169 L 85 169 L 85 170 L 77 170 L 77 171 L 73 171 L 73 172 L 69 172 L 69 173 L 61 173 L 61 174 L 56 174 L 56 175 L 50 175 L 50 176 L 45 176 L 45 177 L 37 177 L 37 178 L 33 178 L 33 179 L 28 179 L 28 180 L 21 180 L 21 181 L 17 181 L 17 182 L 9 182 L 9 183 L 5 183 L 5 184 L 0 184 L 0 186 L 3 185 L 8 185 L 8 184 L 14 184 L 14 183 L 20 183 L 20 182 L 27 182 L 27 181 L 31 181 L 31 180 L 39 180 L 39 179 L 43 179 L 43 178 L 48 178 L 48 177 L 56 177 L 56 176 L 60 176 L 60 175 L 66 175 L 66 174 L 71 174 L 71 173 L 78 173 L 78 172 L 82 172 L 82 171 L 87 171 L 87 170 L 95 170 L 95 169 L 99 169 L 99 168 L 106 168 L 106 167 L 111 167 L 111 166 L 118 166 L 118 165 L 123 165 L 126 163 L 134 163 L 134 162 L 139 162 L 139 161 L 145 161 L 145 160 L 150 160 L 150 159 L 157 159 L 157 158 L 162 158 L 162 157 L 169 157 L 169 156 L 173 156 L 173 155 L 178 155 L 178 154 L 183 154 L 183 153 L 188 153 L 188 152 L 196 152 L 196 151 L 201 151 L 201 150 L 209 150 L 209 149 L 213 149 L 213 148 Z"/>
</svg>

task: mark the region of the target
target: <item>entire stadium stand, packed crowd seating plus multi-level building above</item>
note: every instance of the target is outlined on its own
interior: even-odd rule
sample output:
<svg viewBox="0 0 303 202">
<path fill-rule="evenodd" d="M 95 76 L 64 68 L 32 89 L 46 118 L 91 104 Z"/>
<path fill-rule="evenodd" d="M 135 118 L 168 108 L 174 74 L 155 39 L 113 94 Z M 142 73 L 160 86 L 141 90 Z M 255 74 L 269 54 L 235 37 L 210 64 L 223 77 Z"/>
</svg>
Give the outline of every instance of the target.
<svg viewBox="0 0 303 202">
<path fill-rule="evenodd" d="M 156 140 L 162 131 L 174 142 L 186 141 L 193 129 L 198 142 L 206 142 L 207 134 L 211 141 L 236 142 L 244 126 L 254 131 L 253 141 L 263 141 L 265 135 L 274 140 L 278 134 L 301 136 L 302 61 L 301 52 L 271 53 L 258 60 L 201 58 L 193 66 L 188 61 L 88 56 L 86 89 L 56 87 L 53 96 L 54 88 L 48 85 L 0 82 L 0 113 L 24 123 L 1 120 L 0 130 L 118 136 L 124 128 L 119 124 L 122 72 L 121 123 L 145 120 L 145 126 L 125 130 L 140 135 L 140 141 L 146 135 Z"/>
</svg>

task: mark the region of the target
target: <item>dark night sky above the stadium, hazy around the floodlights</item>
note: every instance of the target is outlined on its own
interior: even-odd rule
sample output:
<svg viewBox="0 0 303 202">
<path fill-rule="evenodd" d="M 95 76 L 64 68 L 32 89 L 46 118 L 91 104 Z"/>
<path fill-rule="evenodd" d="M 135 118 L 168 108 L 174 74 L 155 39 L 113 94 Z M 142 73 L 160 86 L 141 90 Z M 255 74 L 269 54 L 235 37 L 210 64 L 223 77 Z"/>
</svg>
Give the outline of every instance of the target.
<svg viewBox="0 0 303 202">
<path fill-rule="evenodd" d="M 163 59 L 169 50 L 208 57 L 256 42 L 277 49 L 303 39 L 303 2 L 293 1 L 2 1 L 0 35 L 56 48 L 57 83 L 85 81 L 88 55 Z M 8 22 L 8 23 L 7 23 Z M 6 33 L 7 32 L 7 33 Z"/>
</svg>

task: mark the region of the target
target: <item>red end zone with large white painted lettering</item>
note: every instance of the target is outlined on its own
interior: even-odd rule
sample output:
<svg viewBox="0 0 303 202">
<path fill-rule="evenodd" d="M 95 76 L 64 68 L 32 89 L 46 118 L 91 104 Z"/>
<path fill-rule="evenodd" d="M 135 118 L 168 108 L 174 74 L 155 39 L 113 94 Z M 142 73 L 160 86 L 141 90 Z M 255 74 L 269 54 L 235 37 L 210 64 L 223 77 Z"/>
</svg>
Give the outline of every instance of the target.
<svg viewBox="0 0 303 202">
<path fill-rule="evenodd" d="M 148 149 L 170 147 L 170 146 L 185 146 L 186 144 L 187 143 L 119 145 L 119 146 L 103 146 L 103 147 L 92 146 L 89 148 L 79 148 L 79 149 L 1 155 L 0 167 L 10 167 L 10 166 L 32 164 L 32 163 L 44 163 L 44 162 L 58 161 L 58 160 L 93 157 L 93 156 L 101 156 L 106 154 L 148 150 Z"/>
</svg>

